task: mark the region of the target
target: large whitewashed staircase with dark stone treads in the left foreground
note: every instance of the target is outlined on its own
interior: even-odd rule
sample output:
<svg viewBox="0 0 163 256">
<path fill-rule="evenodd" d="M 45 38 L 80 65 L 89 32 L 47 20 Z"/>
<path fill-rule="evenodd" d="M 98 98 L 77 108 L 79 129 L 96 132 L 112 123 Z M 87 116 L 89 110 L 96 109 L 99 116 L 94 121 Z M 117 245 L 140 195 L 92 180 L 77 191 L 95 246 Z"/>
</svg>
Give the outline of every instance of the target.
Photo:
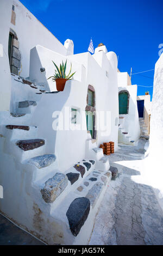
<svg viewBox="0 0 163 256">
<path fill-rule="evenodd" d="M 48 93 L 40 92 L 29 81 L 18 79 L 18 82 L 32 88 L 34 94 L 36 90 L 37 94 Z M 10 168 L 4 167 L 2 178 L 13 175 L 15 187 L 11 186 L 10 193 L 17 197 L 17 202 L 21 201 L 16 206 L 13 197 L 8 202 L 9 211 L 3 202 L 1 210 L 49 245 L 86 244 L 111 180 L 109 160 L 88 138 L 87 159 L 61 173 L 57 156 L 47 153 L 46 138 L 38 137 L 39 127 L 29 125 L 38 99 L 33 96 L 32 100 L 16 101 L 14 113 L 5 113 L 5 124 L 0 123 L 2 157 L 15 170 L 14 175 Z"/>
</svg>

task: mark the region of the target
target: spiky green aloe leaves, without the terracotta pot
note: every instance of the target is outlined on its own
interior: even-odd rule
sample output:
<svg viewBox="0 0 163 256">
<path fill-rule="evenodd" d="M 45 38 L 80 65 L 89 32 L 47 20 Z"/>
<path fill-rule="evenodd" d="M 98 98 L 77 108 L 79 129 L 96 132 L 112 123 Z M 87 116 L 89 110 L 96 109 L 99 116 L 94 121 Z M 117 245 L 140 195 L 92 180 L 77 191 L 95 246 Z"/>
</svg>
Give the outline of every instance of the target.
<svg viewBox="0 0 163 256">
<path fill-rule="evenodd" d="M 53 62 L 53 60 L 52 60 L 52 62 Z M 49 78 L 52 78 L 52 81 L 55 81 L 58 78 L 65 78 L 66 80 L 72 80 L 73 75 L 76 73 L 76 72 L 74 72 L 73 74 L 71 74 L 72 63 L 71 63 L 70 72 L 68 73 L 67 76 L 66 76 L 67 59 L 66 59 L 65 63 L 62 61 L 62 64 L 60 64 L 60 69 L 58 68 L 58 66 L 54 62 L 53 62 L 53 64 L 54 64 L 56 69 L 55 69 L 55 74 L 53 76 L 49 77 Z"/>
</svg>

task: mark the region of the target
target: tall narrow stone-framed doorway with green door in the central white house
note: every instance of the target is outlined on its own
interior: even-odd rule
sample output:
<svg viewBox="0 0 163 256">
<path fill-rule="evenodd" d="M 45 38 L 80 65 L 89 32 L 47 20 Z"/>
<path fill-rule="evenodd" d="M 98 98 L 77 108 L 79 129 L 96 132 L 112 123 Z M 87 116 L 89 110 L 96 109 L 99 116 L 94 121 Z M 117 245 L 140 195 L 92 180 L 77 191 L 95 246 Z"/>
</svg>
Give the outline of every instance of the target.
<svg viewBox="0 0 163 256">
<path fill-rule="evenodd" d="M 96 97 L 95 89 L 90 85 L 87 89 L 86 103 L 85 113 L 87 131 L 90 132 L 92 139 L 96 139 Z"/>
</svg>

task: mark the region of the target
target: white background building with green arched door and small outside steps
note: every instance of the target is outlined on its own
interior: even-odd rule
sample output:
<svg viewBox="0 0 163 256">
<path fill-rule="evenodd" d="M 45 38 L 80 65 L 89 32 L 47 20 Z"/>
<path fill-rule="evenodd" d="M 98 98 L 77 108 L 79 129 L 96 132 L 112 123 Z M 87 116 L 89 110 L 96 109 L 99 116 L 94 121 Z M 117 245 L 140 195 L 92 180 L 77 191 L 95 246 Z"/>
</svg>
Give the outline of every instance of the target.
<svg viewBox="0 0 163 256">
<path fill-rule="evenodd" d="M 135 145 L 140 136 L 137 112 L 137 85 L 131 85 L 127 72 L 118 70 L 119 127 L 118 142 Z"/>
</svg>

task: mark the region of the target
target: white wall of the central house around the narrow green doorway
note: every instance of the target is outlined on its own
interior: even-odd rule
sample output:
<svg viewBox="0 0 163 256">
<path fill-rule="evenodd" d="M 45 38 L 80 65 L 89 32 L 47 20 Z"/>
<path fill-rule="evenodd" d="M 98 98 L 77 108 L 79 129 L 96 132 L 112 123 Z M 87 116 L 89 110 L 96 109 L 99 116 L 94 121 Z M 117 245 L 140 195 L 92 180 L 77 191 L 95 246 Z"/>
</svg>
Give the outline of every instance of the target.
<svg viewBox="0 0 163 256">
<path fill-rule="evenodd" d="M 71 62 L 72 72 L 77 71 L 74 80 L 66 82 L 64 92 L 42 96 L 32 119 L 32 125 L 39 126 L 39 137 L 46 137 L 47 139 L 48 153 L 55 152 L 57 154 L 60 170 L 70 168 L 75 162 L 85 157 L 87 139 L 85 107 L 89 85 L 95 88 L 96 112 L 104 111 L 106 113 L 108 111 L 110 116 L 109 127 L 107 127 L 108 130 L 110 129 L 109 133 L 105 135 L 103 131 L 97 131 L 97 147 L 103 142 L 114 141 L 115 150 L 117 149 L 118 88 L 116 54 L 112 52 L 107 54 L 97 52 L 97 54 L 98 56 L 96 54 L 91 56 L 90 53 L 81 53 L 65 57 L 42 46 L 36 46 L 30 54 L 32 60 L 30 62 L 30 78 L 33 79 L 35 76 L 35 81 L 39 84 L 44 79 L 47 88 L 49 87 L 51 91 L 55 90 L 55 83 L 50 80 L 47 82 L 46 78 L 54 73 L 52 59 L 59 65 L 62 60 L 65 61 L 67 58 L 67 71 L 69 71 Z M 38 63 L 45 67 L 45 74 L 40 74 L 38 71 Z M 108 77 L 106 76 L 106 70 L 108 70 Z M 55 132 L 52 129 L 53 112 L 61 111 L 64 114 L 67 107 L 70 110 L 71 107 L 75 107 L 79 109 L 80 113 L 84 112 L 83 123 L 82 120 L 79 121 L 79 124 L 85 127 L 84 131 L 64 130 Z"/>
</svg>

